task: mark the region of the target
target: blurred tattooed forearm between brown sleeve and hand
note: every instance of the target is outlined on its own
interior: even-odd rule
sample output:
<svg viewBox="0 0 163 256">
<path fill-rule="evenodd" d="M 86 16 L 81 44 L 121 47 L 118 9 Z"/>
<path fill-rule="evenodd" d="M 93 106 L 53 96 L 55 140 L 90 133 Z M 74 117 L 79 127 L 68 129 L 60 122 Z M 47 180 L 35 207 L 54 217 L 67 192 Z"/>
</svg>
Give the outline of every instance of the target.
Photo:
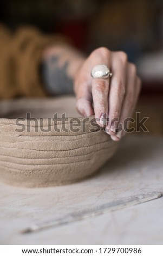
<svg viewBox="0 0 163 256">
<path fill-rule="evenodd" d="M 70 46 L 51 46 L 43 52 L 41 76 L 50 95 L 73 94 L 74 79 L 85 58 Z"/>
</svg>

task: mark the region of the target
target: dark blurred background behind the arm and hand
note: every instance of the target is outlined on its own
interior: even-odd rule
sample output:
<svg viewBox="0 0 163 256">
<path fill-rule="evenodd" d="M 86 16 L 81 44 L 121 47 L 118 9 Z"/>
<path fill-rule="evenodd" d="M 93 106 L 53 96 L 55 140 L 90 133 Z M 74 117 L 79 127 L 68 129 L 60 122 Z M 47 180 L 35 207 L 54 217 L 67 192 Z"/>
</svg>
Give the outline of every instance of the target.
<svg viewBox="0 0 163 256">
<path fill-rule="evenodd" d="M 138 111 L 163 134 L 163 0 L 2 0 L 0 17 L 12 30 L 64 34 L 87 54 L 100 46 L 125 51 L 142 78 Z"/>
</svg>

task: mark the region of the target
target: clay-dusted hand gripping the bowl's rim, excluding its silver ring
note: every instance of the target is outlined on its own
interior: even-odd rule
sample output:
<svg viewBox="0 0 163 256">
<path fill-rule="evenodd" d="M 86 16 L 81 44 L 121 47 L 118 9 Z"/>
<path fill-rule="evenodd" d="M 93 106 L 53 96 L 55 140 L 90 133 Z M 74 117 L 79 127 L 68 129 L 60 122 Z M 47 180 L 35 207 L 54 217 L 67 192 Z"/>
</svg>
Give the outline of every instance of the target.
<svg viewBox="0 0 163 256">
<path fill-rule="evenodd" d="M 111 78 L 92 78 L 94 66 L 105 64 L 113 73 Z M 106 132 L 114 141 L 125 135 L 120 124 L 132 116 L 141 88 L 136 67 L 129 63 L 124 52 L 97 48 L 84 60 L 76 72 L 74 90 L 77 111 L 85 117 L 95 114 L 97 123 L 106 127 Z M 109 118 L 106 122 L 106 118 Z M 121 130 L 121 131 L 120 131 Z"/>
</svg>

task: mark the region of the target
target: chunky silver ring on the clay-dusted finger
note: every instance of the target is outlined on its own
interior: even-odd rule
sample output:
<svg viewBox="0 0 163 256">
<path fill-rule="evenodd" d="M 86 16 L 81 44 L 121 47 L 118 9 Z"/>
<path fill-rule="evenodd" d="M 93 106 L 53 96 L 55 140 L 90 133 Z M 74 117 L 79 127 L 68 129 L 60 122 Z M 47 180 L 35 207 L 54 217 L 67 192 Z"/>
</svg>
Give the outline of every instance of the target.
<svg viewBox="0 0 163 256">
<path fill-rule="evenodd" d="M 91 71 L 91 76 L 93 78 L 103 78 L 106 79 L 108 77 L 112 77 L 112 73 L 108 69 L 107 65 L 96 65 Z"/>
</svg>

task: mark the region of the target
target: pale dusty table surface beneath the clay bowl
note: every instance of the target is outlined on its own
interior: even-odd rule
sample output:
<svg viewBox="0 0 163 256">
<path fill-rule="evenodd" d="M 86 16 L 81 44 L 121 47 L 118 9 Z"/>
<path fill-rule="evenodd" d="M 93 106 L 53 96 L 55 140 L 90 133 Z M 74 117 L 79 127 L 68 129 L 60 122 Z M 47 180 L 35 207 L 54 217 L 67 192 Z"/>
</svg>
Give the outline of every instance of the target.
<svg viewBox="0 0 163 256">
<path fill-rule="evenodd" d="M 163 192 L 163 137 L 128 136 L 99 173 L 76 184 L 0 184 L 1 245 L 163 245 L 163 197 L 86 220 L 21 234 L 38 221 L 144 192 Z"/>
</svg>

